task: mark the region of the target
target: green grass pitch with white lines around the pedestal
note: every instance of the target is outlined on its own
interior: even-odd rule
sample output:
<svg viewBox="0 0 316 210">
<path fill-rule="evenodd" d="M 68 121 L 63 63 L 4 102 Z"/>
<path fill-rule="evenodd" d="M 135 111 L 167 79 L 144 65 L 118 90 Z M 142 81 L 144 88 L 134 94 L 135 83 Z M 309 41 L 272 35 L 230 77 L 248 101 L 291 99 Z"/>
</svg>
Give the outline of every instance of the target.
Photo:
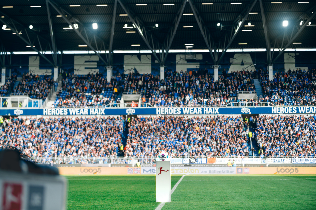
<svg viewBox="0 0 316 210">
<path fill-rule="evenodd" d="M 68 210 L 155 210 L 155 176 L 67 176 Z M 181 175 L 171 177 L 171 188 Z M 316 209 L 316 176 L 187 175 L 162 210 Z"/>
</svg>

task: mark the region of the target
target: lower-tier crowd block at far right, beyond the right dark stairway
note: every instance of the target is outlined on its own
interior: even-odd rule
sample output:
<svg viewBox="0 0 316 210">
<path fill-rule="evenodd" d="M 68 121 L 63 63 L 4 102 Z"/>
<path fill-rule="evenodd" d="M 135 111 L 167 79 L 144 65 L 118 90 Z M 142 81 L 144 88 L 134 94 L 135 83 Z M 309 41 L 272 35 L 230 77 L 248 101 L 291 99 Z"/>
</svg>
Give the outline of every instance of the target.
<svg viewBox="0 0 316 210">
<path fill-rule="evenodd" d="M 257 116 L 259 156 L 316 156 L 316 116 Z"/>
</svg>

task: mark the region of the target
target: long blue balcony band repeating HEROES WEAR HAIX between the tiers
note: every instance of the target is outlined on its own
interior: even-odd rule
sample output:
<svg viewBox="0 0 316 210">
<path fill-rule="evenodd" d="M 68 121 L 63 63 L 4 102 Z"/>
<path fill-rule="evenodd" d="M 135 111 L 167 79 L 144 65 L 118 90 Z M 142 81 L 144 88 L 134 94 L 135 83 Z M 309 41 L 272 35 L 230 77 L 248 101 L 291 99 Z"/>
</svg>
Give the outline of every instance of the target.
<svg viewBox="0 0 316 210">
<path fill-rule="evenodd" d="M 0 109 L 1 116 L 16 115 L 210 115 L 210 114 L 315 114 L 316 106 L 282 107 L 183 107 L 183 108 L 53 108 Z"/>
</svg>

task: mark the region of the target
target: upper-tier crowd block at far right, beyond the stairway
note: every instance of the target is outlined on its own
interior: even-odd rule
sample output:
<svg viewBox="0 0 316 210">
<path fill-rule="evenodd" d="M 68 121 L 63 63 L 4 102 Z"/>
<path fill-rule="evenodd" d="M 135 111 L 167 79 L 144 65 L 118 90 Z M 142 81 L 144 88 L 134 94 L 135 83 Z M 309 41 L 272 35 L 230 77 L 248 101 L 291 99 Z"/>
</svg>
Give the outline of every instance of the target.
<svg viewBox="0 0 316 210">
<path fill-rule="evenodd" d="M 269 80 L 268 72 L 262 71 L 260 82 L 264 95 L 259 100 L 275 105 L 315 105 L 315 80 L 315 69 L 277 72 L 272 81 Z"/>
</svg>

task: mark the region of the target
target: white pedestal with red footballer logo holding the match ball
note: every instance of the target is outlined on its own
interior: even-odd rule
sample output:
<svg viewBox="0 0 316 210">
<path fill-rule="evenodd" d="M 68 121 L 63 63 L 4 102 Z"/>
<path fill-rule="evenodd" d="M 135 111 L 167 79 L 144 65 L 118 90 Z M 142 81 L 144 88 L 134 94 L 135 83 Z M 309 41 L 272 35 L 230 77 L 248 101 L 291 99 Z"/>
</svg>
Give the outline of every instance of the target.
<svg viewBox="0 0 316 210">
<path fill-rule="evenodd" d="M 156 202 L 170 202 L 171 176 L 170 161 L 156 162 Z"/>
</svg>

